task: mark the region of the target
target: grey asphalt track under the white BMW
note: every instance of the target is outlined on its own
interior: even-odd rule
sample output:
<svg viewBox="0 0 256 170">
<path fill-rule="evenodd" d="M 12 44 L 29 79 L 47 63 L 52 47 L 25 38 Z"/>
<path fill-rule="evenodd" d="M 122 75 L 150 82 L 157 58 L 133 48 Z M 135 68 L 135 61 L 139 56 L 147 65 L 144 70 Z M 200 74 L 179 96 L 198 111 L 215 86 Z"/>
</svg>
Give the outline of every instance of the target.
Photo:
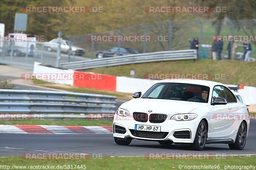
<svg viewBox="0 0 256 170">
<path fill-rule="evenodd" d="M 112 134 L 0 134 L 0 157 L 26 152 L 93 153 L 107 156 L 145 156 L 146 153 L 211 153 L 213 155 L 256 154 L 256 121 L 252 120 L 243 150 L 230 150 L 227 144 L 206 145 L 203 151 L 188 146 L 159 145 L 158 142 L 133 139 L 128 146 L 116 145 Z"/>
</svg>

